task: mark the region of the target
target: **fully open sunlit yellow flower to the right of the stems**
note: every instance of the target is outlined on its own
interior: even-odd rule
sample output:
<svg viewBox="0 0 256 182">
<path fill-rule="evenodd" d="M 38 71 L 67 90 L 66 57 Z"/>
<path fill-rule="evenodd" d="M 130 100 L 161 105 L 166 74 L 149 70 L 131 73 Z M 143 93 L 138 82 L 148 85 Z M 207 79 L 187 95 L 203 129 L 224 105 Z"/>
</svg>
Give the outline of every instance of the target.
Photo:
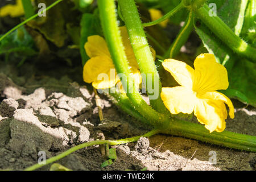
<svg viewBox="0 0 256 182">
<path fill-rule="evenodd" d="M 170 72 L 180 86 L 162 88 L 161 98 L 172 114 L 191 114 L 212 133 L 221 132 L 226 127 L 226 111 L 234 118 L 234 106 L 230 99 L 216 90 L 229 86 L 226 68 L 217 63 L 214 55 L 203 53 L 196 57 L 195 69 L 182 61 L 164 60 L 164 69 Z"/>
</svg>

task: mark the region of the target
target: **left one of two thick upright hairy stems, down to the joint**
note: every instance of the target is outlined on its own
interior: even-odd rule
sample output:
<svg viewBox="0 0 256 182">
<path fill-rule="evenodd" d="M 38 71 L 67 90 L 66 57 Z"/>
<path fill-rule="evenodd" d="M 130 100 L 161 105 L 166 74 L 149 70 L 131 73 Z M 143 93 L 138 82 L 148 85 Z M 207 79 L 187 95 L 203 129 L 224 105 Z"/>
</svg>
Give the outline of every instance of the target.
<svg viewBox="0 0 256 182">
<path fill-rule="evenodd" d="M 119 3 L 120 2 L 121 1 L 119 1 Z M 159 127 L 161 123 L 168 122 L 168 118 L 147 105 L 134 86 L 133 78 L 131 78 L 129 74 L 129 65 L 119 32 L 114 0 L 99 0 L 98 7 L 100 10 L 102 29 L 115 69 L 117 70 L 117 73 L 122 74 L 125 77 L 122 78 L 122 86 L 126 90 L 126 94 L 134 108 L 147 119 L 149 125 Z M 148 51 L 150 52 L 150 49 Z M 151 52 L 149 55 L 152 57 Z"/>
</svg>

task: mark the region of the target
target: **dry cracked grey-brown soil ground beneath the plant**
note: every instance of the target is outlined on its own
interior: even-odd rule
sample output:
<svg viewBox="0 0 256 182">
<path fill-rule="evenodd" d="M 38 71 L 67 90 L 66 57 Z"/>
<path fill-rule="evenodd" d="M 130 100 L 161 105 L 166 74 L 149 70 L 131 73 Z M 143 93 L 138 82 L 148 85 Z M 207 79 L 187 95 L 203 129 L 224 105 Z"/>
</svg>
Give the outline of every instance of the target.
<svg viewBox="0 0 256 182">
<path fill-rule="evenodd" d="M 25 63 L 16 68 L 0 61 L 0 169 L 22 170 L 37 163 L 39 151 L 51 158 L 102 134 L 105 139 L 122 139 L 149 131 L 102 95 L 101 106 L 108 121 L 100 125 L 92 88 L 86 88 L 81 75 L 80 65 L 71 69 L 57 62 Z M 226 130 L 256 135 L 256 109 L 236 100 L 233 103 L 236 115 L 226 120 Z M 72 170 L 256 169 L 253 152 L 171 135 L 154 135 L 113 147 L 117 148 L 117 160 L 108 167 L 100 167 L 104 158 L 99 146 L 76 151 L 57 163 Z M 215 152 L 213 164 L 209 159 Z"/>
</svg>

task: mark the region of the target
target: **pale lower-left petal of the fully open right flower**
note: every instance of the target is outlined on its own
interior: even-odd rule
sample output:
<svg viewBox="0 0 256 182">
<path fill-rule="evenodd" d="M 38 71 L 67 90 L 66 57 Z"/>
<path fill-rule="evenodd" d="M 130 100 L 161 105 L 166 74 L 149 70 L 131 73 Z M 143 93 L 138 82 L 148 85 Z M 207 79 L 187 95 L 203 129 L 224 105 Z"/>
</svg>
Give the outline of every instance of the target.
<svg viewBox="0 0 256 182">
<path fill-rule="evenodd" d="M 162 88 L 161 98 L 172 114 L 191 114 L 196 104 L 195 94 L 184 86 Z"/>
</svg>

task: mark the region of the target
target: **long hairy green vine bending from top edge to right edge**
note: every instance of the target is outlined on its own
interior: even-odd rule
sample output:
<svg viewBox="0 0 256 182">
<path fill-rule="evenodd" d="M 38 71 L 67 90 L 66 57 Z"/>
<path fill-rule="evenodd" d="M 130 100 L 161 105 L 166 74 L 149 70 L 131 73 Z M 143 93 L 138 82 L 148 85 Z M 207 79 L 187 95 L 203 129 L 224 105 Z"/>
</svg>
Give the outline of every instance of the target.
<svg viewBox="0 0 256 182">
<path fill-rule="evenodd" d="M 115 68 L 118 73 L 125 73 L 125 75 L 128 75 L 128 64 L 125 51 L 123 50 L 121 36 L 119 35 L 117 19 L 115 16 L 114 0 L 99 0 L 98 5 L 100 9 L 102 28 L 104 30 L 106 42 L 108 43 Z M 123 16 L 125 15 L 123 14 Z M 133 88 L 133 80 L 129 81 L 131 83 L 126 85 L 127 83 L 122 80 L 123 86 Z M 153 126 L 158 127 L 161 133 L 179 135 L 240 150 L 256 151 L 256 137 L 227 131 L 224 133 L 209 133 L 203 125 L 181 121 L 176 118 L 164 117 L 162 114 L 152 110 L 151 107 L 142 100 L 141 95 L 138 92 L 127 93 L 127 96 L 135 109 L 138 110 L 139 113 L 143 115 L 143 117 L 146 118 Z"/>
</svg>

